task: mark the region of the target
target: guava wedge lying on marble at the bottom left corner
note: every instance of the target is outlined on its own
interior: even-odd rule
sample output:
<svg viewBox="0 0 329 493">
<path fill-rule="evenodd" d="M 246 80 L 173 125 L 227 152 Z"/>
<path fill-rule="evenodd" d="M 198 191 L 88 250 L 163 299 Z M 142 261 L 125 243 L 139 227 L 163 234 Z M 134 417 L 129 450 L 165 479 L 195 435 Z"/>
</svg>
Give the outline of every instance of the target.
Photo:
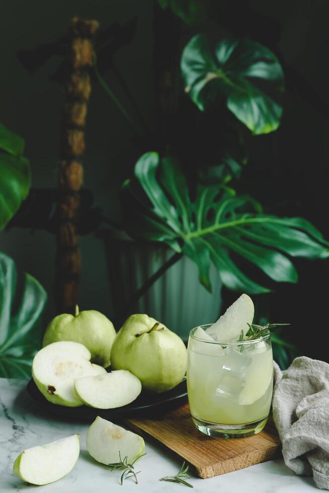
<svg viewBox="0 0 329 493">
<path fill-rule="evenodd" d="M 48 484 L 66 476 L 79 456 L 80 435 L 24 450 L 14 462 L 14 474 L 28 483 Z"/>
</svg>

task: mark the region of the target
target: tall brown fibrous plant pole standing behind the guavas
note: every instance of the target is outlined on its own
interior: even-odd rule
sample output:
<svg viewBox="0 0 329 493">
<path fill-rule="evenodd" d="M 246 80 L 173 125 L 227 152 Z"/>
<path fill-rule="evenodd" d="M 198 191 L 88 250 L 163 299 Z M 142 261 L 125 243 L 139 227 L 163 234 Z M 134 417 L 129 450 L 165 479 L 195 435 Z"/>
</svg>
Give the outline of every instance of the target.
<svg viewBox="0 0 329 493">
<path fill-rule="evenodd" d="M 65 85 L 65 107 L 61 134 L 58 215 L 56 234 L 55 301 L 59 313 L 74 313 L 79 301 L 81 255 L 76 219 L 79 190 L 83 183 L 87 106 L 91 93 L 93 37 L 99 24 L 74 17 L 70 26 L 70 73 Z"/>
</svg>

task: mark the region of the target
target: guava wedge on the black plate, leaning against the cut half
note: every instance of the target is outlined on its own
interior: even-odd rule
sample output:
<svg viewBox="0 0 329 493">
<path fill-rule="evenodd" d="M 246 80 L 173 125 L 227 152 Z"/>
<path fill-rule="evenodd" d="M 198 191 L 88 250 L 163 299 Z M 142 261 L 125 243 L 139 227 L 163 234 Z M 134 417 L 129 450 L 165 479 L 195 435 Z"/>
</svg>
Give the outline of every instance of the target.
<svg viewBox="0 0 329 493">
<path fill-rule="evenodd" d="M 139 378 L 128 370 L 115 370 L 74 380 L 77 396 L 85 404 L 99 409 L 112 409 L 129 404 L 136 399 L 141 389 Z"/>
</svg>

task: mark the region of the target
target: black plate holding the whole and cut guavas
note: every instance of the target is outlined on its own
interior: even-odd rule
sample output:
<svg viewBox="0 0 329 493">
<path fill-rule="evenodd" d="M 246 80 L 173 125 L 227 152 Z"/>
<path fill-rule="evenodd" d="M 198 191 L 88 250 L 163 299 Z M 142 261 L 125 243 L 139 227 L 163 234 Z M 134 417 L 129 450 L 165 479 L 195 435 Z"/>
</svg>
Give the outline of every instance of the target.
<svg viewBox="0 0 329 493">
<path fill-rule="evenodd" d="M 64 418 L 72 418 L 75 421 L 90 421 L 94 420 L 97 416 L 110 421 L 115 418 L 154 417 L 155 415 L 160 415 L 170 409 L 174 409 L 187 401 L 186 380 L 183 380 L 177 387 L 168 392 L 151 394 L 142 391 L 133 402 L 122 407 L 116 407 L 115 409 L 97 409 L 87 405 L 66 407 L 52 404 L 42 395 L 32 378 L 28 382 L 26 390 L 29 397 L 41 406 L 46 413 L 55 414 Z"/>
</svg>

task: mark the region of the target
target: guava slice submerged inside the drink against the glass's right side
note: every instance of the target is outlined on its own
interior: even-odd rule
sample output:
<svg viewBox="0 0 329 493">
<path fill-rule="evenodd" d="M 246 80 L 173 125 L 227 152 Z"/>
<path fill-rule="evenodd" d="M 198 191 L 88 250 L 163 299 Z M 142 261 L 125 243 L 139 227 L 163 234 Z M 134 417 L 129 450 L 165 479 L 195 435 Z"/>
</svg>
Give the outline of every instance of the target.
<svg viewBox="0 0 329 493">
<path fill-rule="evenodd" d="M 272 350 L 269 349 L 264 353 L 254 354 L 244 377 L 245 385 L 238 397 L 237 403 L 239 405 L 251 405 L 256 402 L 265 394 L 272 382 Z"/>
</svg>

